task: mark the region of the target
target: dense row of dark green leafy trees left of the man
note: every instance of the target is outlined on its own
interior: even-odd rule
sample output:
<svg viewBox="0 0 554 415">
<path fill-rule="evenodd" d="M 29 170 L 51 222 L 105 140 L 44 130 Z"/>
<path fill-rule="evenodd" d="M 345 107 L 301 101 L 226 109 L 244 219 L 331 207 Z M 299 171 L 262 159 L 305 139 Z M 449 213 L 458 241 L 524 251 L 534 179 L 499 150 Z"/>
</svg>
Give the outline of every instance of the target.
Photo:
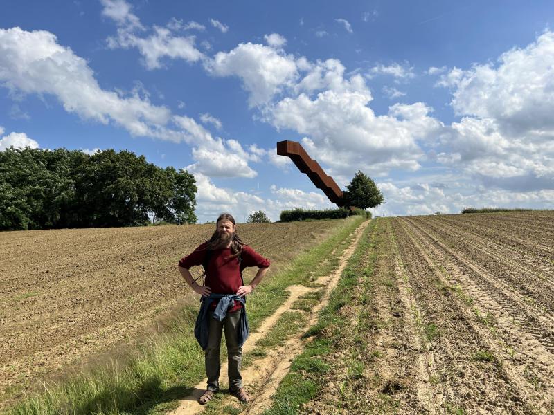
<svg viewBox="0 0 554 415">
<path fill-rule="evenodd" d="M 112 149 L 0 152 L 0 230 L 195 223 L 192 174 Z"/>
</svg>

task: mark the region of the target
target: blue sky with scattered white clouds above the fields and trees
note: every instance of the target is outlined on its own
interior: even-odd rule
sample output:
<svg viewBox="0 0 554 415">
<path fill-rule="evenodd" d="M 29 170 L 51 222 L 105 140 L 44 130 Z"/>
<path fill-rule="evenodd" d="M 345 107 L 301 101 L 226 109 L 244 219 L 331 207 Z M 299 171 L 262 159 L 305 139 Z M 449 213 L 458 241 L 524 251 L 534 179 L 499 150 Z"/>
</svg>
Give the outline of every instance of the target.
<svg viewBox="0 0 554 415">
<path fill-rule="evenodd" d="M 0 151 L 129 149 L 195 174 L 200 222 L 330 208 L 296 140 L 375 214 L 554 208 L 551 1 L 11 1 Z"/>
</svg>

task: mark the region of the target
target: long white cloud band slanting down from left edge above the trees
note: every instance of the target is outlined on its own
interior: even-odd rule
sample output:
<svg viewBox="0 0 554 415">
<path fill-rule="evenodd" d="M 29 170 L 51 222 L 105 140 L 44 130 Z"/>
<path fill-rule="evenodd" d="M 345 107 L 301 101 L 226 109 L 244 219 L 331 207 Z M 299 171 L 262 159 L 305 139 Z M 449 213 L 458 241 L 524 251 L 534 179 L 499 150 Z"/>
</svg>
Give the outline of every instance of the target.
<svg viewBox="0 0 554 415">
<path fill-rule="evenodd" d="M 233 140 L 213 138 L 192 118 L 153 105 L 140 87 L 129 96 L 100 88 L 87 62 L 44 30 L 0 29 L 0 82 L 19 94 L 51 94 L 66 111 L 102 124 L 115 122 L 133 136 L 187 142 L 194 146 L 198 172 L 256 176 L 248 165 L 255 155 L 238 149 Z"/>
</svg>

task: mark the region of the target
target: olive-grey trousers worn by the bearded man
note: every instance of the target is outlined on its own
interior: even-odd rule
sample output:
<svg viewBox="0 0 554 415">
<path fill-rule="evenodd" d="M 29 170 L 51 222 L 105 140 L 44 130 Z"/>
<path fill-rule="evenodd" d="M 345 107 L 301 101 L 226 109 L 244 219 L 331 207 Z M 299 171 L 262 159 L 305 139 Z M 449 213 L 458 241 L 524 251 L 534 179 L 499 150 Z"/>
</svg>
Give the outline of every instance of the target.
<svg viewBox="0 0 554 415">
<path fill-rule="evenodd" d="M 229 389 L 234 391 L 242 387 L 240 376 L 240 363 L 242 362 L 242 347 L 238 344 L 238 322 L 241 310 L 227 313 L 222 322 L 209 315 L 210 327 L 208 329 L 208 347 L 206 347 L 206 376 L 208 376 L 208 389 L 217 391 L 220 389 L 220 346 L 221 332 L 225 332 L 227 345 Z"/>
</svg>

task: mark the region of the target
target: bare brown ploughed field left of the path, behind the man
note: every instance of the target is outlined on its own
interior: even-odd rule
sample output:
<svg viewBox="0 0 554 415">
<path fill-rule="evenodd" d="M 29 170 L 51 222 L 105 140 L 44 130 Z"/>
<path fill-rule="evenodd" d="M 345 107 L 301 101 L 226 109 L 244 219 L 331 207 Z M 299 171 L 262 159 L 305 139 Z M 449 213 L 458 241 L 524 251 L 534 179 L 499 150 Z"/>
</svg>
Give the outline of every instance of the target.
<svg viewBox="0 0 554 415">
<path fill-rule="evenodd" d="M 239 224 L 238 233 L 271 259 L 271 277 L 325 238 L 333 223 Z M 0 398 L 128 344 L 179 304 L 196 302 L 177 261 L 213 230 L 183 225 L 0 233 Z"/>
</svg>

